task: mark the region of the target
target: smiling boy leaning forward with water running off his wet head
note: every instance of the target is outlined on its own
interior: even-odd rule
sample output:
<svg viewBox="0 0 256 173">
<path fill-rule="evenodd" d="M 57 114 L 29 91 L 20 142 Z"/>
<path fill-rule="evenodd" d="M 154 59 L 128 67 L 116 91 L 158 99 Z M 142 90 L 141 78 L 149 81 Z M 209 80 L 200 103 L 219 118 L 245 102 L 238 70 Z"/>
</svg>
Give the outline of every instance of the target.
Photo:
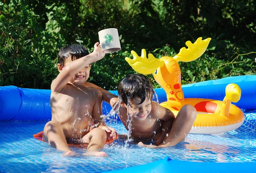
<svg viewBox="0 0 256 173">
<path fill-rule="evenodd" d="M 175 146 L 184 141 L 195 121 L 197 112 L 191 105 L 184 105 L 176 118 L 172 111 L 152 101 L 154 88 L 151 81 L 142 74 L 130 74 L 119 83 L 115 96 L 100 89 L 103 99 L 112 108 L 120 104 L 118 115 L 131 136 L 143 147 Z M 130 127 L 129 127 L 130 126 Z M 145 145 L 143 142 L 154 145 Z"/>
</svg>

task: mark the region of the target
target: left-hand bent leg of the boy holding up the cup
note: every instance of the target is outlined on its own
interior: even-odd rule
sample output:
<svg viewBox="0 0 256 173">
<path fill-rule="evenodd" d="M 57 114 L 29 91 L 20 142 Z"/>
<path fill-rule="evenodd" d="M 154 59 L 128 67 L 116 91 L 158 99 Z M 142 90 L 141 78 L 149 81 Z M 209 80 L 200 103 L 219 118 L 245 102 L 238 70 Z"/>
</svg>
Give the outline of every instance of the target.
<svg viewBox="0 0 256 173">
<path fill-rule="evenodd" d="M 71 151 L 67 145 L 61 123 L 58 121 L 52 120 L 46 123 L 44 126 L 43 140 L 47 141 L 50 147 L 55 147 L 63 151 Z M 67 152 L 66 154 L 70 155 L 73 152 Z"/>
</svg>

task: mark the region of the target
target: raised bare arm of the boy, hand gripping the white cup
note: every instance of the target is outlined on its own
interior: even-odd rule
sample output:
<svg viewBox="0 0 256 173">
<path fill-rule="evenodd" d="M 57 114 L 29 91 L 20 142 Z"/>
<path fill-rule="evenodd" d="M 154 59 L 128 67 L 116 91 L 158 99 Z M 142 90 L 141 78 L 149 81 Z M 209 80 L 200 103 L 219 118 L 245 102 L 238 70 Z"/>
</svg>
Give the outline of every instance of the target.
<svg viewBox="0 0 256 173">
<path fill-rule="evenodd" d="M 94 44 L 94 50 L 91 54 L 81 57 L 78 60 L 68 63 L 52 81 L 51 90 L 60 92 L 73 75 L 77 74 L 86 65 L 101 60 L 105 56 L 105 51 L 101 51 L 99 43 Z"/>
</svg>

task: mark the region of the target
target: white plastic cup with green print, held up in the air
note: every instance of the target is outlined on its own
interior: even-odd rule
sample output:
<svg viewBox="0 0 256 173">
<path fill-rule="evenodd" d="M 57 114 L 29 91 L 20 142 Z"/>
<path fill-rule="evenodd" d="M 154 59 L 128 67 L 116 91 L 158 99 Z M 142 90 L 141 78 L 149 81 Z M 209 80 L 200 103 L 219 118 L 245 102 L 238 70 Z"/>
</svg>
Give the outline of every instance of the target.
<svg viewBox="0 0 256 173">
<path fill-rule="evenodd" d="M 108 28 L 99 31 L 99 43 L 102 51 L 113 53 L 121 50 L 119 35 L 116 28 Z"/>
</svg>

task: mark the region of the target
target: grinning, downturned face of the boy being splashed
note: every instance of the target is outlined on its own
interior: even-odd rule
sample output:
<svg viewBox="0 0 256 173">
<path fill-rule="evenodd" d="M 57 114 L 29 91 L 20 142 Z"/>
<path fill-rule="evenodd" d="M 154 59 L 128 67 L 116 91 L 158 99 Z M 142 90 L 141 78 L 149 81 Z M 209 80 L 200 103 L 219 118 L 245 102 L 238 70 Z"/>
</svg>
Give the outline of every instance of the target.
<svg viewBox="0 0 256 173">
<path fill-rule="evenodd" d="M 146 97 L 143 103 L 141 103 L 141 99 L 139 97 L 134 97 L 134 99 L 130 100 L 130 106 L 128 112 L 132 114 L 132 117 L 143 121 L 147 118 L 148 114 L 151 112 L 151 98 Z"/>
</svg>

